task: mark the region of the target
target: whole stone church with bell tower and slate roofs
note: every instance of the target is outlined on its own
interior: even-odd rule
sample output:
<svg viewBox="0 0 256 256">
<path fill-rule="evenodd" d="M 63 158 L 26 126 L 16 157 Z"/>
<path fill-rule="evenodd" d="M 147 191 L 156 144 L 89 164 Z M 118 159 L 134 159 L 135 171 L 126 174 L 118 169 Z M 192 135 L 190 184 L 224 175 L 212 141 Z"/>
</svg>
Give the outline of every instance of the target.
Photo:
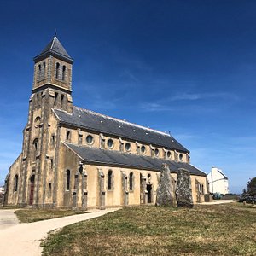
<svg viewBox="0 0 256 256">
<path fill-rule="evenodd" d="M 169 134 L 73 106 L 73 59 L 54 37 L 34 59 L 22 152 L 9 167 L 5 205 L 90 209 L 154 204 L 165 163 L 189 171 L 193 201 L 207 175 Z"/>
</svg>

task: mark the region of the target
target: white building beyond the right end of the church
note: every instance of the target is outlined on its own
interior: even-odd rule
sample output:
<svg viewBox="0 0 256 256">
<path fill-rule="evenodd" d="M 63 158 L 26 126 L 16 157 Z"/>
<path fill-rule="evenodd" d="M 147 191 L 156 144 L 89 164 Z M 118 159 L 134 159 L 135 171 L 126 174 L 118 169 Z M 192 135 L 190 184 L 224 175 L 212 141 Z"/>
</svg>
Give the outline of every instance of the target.
<svg viewBox="0 0 256 256">
<path fill-rule="evenodd" d="M 227 194 L 229 193 L 229 179 L 222 170 L 212 167 L 212 171 L 207 175 L 209 182 L 209 192 Z"/>
</svg>

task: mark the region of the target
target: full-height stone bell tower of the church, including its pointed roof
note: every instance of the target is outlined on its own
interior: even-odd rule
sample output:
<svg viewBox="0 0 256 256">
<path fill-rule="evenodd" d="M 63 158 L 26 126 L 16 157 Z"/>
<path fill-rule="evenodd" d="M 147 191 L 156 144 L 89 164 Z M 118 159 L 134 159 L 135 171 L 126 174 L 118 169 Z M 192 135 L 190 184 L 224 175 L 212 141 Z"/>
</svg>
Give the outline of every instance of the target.
<svg viewBox="0 0 256 256">
<path fill-rule="evenodd" d="M 23 131 L 18 197 L 20 205 L 44 205 L 46 177 L 49 166 L 55 166 L 56 142 L 60 140 L 59 128 L 53 125 L 55 114 L 52 109 L 73 112 L 73 59 L 58 38 L 54 37 L 33 61 L 32 95 Z M 55 203 L 54 199 L 52 203 Z"/>
</svg>

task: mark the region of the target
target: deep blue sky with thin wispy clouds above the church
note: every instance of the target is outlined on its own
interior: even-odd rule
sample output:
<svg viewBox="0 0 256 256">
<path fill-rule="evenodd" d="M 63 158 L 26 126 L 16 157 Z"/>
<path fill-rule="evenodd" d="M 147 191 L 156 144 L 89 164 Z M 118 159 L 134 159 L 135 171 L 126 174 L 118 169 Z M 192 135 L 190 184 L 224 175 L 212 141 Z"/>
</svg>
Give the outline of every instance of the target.
<svg viewBox="0 0 256 256">
<path fill-rule="evenodd" d="M 256 1 L 0 1 L 0 185 L 21 152 L 33 61 L 55 30 L 73 103 L 170 132 L 241 193 L 256 177 Z"/>
</svg>

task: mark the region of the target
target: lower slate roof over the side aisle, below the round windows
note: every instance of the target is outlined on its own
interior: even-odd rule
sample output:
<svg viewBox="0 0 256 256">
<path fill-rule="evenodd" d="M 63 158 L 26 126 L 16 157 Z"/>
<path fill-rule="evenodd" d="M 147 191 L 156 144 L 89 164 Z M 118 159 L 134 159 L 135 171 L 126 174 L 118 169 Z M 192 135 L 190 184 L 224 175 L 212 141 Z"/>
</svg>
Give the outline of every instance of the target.
<svg viewBox="0 0 256 256">
<path fill-rule="evenodd" d="M 79 155 L 85 163 L 94 163 L 101 165 L 114 165 L 137 169 L 146 169 L 153 171 L 160 171 L 163 163 L 166 163 L 171 172 L 177 172 L 178 168 L 185 168 L 191 175 L 207 176 L 206 173 L 201 172 L 195 166 L 191 166 L 183 162 L 175 162 L 171 160 L 162 160 L 158 158 L 151 158 L 148 156 L 120 153 L 119 151 L 90 148 L 86 146 L 79 146 L 72 143 L 64 143 L 68 148 L 71 148 L 73 152 Z"/>
</svg>

